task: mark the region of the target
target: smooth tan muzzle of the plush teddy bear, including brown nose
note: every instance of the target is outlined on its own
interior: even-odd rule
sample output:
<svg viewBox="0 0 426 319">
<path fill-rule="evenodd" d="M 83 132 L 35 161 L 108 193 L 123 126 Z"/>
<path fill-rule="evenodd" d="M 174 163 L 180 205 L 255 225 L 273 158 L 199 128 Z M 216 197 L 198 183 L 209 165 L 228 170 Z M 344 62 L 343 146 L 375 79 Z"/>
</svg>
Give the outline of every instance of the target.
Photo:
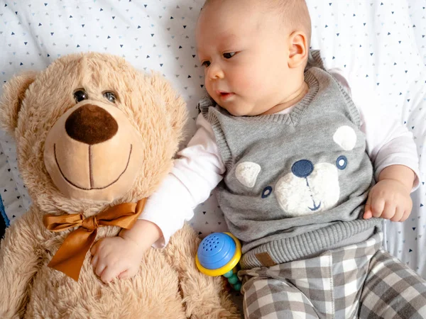
<svg viewBox="0 0 426 319">
<path fill-rule="evenodd" d="M 141 138 L 119 108 L 84 101 L 63 114 L 45 142 L 45 167 L 70 198 L 112 201 L 141 166 Z"/>
</svg>

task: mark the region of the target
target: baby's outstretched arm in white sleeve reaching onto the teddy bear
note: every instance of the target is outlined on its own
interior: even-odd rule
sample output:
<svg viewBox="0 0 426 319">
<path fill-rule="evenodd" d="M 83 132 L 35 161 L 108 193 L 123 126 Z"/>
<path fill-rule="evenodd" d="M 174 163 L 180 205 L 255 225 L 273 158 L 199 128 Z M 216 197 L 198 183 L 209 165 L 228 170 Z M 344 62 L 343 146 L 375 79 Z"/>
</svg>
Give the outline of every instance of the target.
<svg viewBox="0 0 426 319">
<path fill-rule="evenodd" d="M 102 281 L 134 276 L 146 250 L 165 247 L 170 236 L 192 218 L 193 209 L 222 180 L 224 163 L 212 128 L 201 115 L 197 132 L 178 156 L 172 172 L 148 198 L 133 228 L 121 230 L 119 237 L 99 240 L 92 248 L 92 264 Z"/>
</svg>

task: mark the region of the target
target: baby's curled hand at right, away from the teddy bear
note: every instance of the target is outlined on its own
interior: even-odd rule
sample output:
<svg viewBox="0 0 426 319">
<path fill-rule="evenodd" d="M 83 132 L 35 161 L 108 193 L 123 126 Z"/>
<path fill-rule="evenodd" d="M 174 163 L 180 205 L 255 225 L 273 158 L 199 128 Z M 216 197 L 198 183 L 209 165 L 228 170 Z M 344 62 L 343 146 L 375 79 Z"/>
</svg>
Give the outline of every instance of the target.
<svg viewBox="0 0 426 319">
<path fill-rule="evenodd" d="M 410 216 L 413 208 L 410 191 L 407 186 L 395 179 L 378 181 L 368 194 L 364 219 L 381 217 L 403 222 Z"/>
</svg>

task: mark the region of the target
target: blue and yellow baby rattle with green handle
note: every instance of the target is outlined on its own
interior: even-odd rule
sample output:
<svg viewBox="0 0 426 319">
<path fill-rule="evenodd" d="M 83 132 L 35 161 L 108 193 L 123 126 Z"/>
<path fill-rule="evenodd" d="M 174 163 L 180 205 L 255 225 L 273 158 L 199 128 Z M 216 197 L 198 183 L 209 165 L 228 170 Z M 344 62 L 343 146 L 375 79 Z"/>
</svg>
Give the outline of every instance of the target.
<svg viewBox="0 0 426 319">
<path fill-rule="evenodd" d="M 207 276 L 224 276 L 229 284 L 240 291 L 241 281 L 236 276 L 236 265 L 241 258 L 241 243 L 230 233 L 212 233 L 198 246 L 195 263 Z"/>
</svg>

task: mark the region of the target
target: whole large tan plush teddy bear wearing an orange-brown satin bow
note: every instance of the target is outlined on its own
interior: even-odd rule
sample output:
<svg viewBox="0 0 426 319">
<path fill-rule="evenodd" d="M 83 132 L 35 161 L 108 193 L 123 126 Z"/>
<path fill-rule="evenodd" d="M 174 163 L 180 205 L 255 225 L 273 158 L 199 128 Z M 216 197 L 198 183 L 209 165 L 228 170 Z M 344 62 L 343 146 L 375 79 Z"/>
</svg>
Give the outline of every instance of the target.
<svg viewBox="0 0 426 319">
<path fill-rule="evenodd" d="M 189 225 L 131 279 L 104 284 L 90 263 L 170 171 L 186 118 L 163 76 L 114 55 L 66 55 L 6 82 L 0 123 L 33 203 L 0 244 L 0 318 L 240 318 L 224 281 L 197 270 Z"/>
</svg>

